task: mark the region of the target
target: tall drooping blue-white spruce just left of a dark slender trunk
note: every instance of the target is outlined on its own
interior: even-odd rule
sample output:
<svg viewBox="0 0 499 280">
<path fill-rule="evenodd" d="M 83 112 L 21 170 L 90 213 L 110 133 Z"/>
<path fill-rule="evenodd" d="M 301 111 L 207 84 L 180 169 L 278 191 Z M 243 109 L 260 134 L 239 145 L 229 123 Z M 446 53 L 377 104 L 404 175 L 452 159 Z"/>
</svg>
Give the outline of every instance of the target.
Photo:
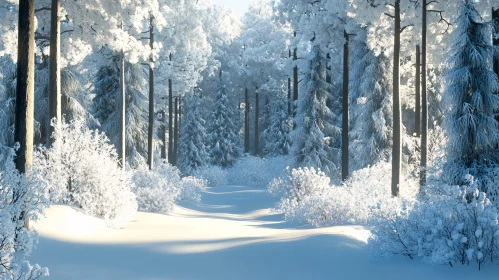
<svg viewBox="0 0 499 280">
<path fill-rule="evenodd" d="M 292 133 L 293 154 L 298 165 L 333 174 L 339 151 L 331 144 L 340 129 L 330 123 L 332 112 L 326 103 L 331 85 L 326 82 L 325 58 L 319 46 L 312 49 L 308 64 L 308 74 L 301 82 L 304 86 L 298 100 L 296 130 Z"/>
</svg>

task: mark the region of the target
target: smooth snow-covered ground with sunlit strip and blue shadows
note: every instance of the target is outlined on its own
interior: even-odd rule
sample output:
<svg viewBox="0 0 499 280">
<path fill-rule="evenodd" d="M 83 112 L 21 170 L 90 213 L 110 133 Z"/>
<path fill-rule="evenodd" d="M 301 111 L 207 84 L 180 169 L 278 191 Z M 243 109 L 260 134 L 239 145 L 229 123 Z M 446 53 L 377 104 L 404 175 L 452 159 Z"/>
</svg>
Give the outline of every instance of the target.
<svg viewBox="0 0 499 280">
<path fill-rule="evenodd" d="M 362 227 L 309 228 L 283 221 L 265 190 L 216 187 L 200 206 L 138 213 L 124 229 L 67 206 L 35 225 L 33 261 L 61 280 L 434 280 L 498 279 L 499 268 L 428 266 L 404 257 L 373 260 Z"/>
</svg>

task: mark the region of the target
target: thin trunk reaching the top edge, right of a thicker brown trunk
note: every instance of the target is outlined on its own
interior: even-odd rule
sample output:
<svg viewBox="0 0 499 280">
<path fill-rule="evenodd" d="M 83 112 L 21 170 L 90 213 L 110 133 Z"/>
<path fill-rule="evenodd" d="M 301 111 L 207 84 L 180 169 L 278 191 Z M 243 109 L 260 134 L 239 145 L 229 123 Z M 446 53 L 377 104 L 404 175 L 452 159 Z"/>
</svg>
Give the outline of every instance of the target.
<svg viewBox="0 0 499 280">
<path fill-rule="evenodd" d="M 423 0 L 423 15 L 422 15 L 422 44 L 423 51 L 421 53 L 421 99 L 422 99 L 422 132 L 421 132 L 421 171 L 420 171 L 420 185 L 426 185 L 426 166 L 428 161 L 428 96 L 426 92 L 426 52 L 427 52 L 427 43 L 426 43 L 426 34 L 427 34 L 427 23 L 426 23 L 426 15 L 427 15 L 427 0 Z"/>
</svg>

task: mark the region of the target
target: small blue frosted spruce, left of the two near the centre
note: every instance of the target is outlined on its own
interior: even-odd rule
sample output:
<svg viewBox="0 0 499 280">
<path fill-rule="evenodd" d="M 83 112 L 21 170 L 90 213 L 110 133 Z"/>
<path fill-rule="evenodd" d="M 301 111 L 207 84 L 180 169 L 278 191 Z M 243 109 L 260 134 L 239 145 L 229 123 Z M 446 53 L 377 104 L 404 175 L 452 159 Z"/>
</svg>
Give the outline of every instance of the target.
<svg viewBox="0 0 499 280">
<path fill-rule="evenodd" d="M 199 110 L 199 98 L 188 98 L 186 105 L 186 115 L 180 131 L 180 168 L 190 173 L 208 163 L 208 136 L 204 127 L 205 120 Z"/>
</svg>

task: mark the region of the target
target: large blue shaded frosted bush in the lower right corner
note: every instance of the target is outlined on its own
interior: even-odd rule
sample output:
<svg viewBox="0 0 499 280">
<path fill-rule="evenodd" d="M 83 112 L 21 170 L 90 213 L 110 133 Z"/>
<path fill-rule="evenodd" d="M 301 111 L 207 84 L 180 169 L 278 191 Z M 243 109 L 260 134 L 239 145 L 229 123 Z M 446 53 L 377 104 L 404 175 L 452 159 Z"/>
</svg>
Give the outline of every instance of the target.
<svg viewBox="0 0 499 280">
<path fill-rule="evenodd" d="M 376 255 L 405 255 L 454 266 L 497 262 L 499 211 L 470 176 L 468 186 L 378 217 L 370 243 Z"/>
</svg>

